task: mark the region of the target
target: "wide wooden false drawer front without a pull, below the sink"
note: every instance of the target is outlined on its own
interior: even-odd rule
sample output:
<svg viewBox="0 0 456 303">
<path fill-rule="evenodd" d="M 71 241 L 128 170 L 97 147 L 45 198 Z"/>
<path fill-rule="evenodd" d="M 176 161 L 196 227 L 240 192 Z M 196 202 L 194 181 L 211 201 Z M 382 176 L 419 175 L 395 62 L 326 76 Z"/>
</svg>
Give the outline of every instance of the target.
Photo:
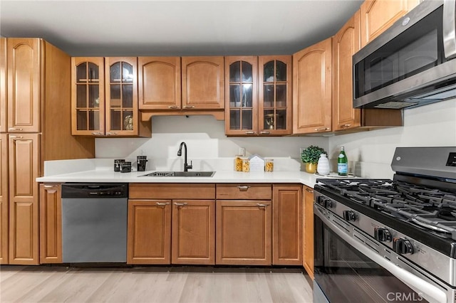
<svg viewBox="0 0 456 303">
<path fill-rule="evenodd" d="M 130 183 L 135 199 L 214 199 L 215 184 Z"/>
</svg>

